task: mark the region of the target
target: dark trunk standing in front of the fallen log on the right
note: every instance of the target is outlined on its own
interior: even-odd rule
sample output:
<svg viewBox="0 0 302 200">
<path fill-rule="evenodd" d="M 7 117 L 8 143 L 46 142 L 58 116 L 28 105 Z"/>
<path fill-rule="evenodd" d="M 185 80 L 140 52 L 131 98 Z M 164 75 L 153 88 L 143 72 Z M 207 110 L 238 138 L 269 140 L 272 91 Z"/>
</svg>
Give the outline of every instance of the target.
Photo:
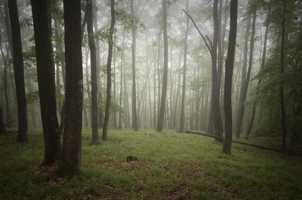
<svg viewBox="0 0 302 200">
<path fill-rule="evenodd" d="M 225 61 L 224 76 L 225 137 L 222 147 L 222 153 L 228 154 L 231 153 L 232 147 L 232 76 L 237 36 L 237 10 L 238 0 L 231 0 L 229 45 L 228 54 Z"/>
</svg>

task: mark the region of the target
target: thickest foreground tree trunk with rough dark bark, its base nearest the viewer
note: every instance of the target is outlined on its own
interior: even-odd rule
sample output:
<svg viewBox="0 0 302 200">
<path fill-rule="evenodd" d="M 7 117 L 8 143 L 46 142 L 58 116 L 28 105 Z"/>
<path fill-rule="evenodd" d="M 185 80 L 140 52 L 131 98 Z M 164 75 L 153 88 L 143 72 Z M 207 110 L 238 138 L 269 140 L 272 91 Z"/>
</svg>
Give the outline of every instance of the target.
<svg viewBox="0 0 302 200">
<path fill-rule="evenodd" d="M 80 173 L 83 111 L 81 1 L 64 0 L 66 63 L 65 127 L 59 173 Z"/>
</svg>

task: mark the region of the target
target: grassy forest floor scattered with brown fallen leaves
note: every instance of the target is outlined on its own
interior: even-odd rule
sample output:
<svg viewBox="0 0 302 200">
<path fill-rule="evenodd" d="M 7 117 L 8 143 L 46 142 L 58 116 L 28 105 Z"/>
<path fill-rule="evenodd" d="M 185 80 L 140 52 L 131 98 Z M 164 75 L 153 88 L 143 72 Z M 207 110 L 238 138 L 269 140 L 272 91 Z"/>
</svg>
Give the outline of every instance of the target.
<svg viewBox="0 0 302 200">
<path fill-rule="evenodd" d="M 109 130 L 108 141 L 91 145 L 84 129 L 81 176 L 67 180 L 57 164 L 39 167 L 42 130 L 29 133 L 27 144 L 0 137 L 0 199 L 302 199 L 298 156 L 240 144 L 224 155 L 212 138 L 142 129 Z"/>
</svg>

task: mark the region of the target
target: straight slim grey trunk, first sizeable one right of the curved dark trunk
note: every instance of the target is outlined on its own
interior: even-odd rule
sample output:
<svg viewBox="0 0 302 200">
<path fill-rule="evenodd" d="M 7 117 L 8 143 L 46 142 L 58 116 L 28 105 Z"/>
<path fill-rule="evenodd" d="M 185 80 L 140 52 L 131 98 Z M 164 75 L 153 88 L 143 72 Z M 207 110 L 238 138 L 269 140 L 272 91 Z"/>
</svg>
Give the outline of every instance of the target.
<svg viewBox="0 0 302 200">
<path fill-rule="evenodd" d="M 138 131 L 138 125 L 137 125 L 137 112 L 136 112 L 136 76 L 135 76 L 135 59 L 136 59 L 136 27 L 134 25 L 134 6 L 133 6 L 134 0 L 131 0 L 131 16 L 133 18 L 132 20 L 132 125 L 131 129 L 134 129 L 134 131 Z"/>
</svg>

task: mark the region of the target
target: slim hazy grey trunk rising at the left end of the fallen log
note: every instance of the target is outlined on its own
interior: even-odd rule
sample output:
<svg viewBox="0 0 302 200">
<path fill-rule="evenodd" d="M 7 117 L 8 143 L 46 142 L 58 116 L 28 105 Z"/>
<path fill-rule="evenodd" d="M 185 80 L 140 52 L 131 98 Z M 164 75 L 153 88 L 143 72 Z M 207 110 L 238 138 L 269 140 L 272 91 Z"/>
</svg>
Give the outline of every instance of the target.
<svg viewBox="0 0 302 200">
<path fill-rule="evenodd" d="M 189 13 L 189 0 L 186 0 L 186 12 Z M 186 34 L 185 34 L 185 50 L 184 50 L 184 65 L 183 65 L 183 85 L 182 85 L 182 97 L 181 97 L 181 112 L 180 112 L 180 127 L 179 132 L 184 131 L 184 110 L 185 110 L 185 95 L 186 95 L 186 66 L 187 66 L 187 51 L 188 51 L 188 33 L 189 33 L 189 17 L 186 17 Z"/>
</svg>

